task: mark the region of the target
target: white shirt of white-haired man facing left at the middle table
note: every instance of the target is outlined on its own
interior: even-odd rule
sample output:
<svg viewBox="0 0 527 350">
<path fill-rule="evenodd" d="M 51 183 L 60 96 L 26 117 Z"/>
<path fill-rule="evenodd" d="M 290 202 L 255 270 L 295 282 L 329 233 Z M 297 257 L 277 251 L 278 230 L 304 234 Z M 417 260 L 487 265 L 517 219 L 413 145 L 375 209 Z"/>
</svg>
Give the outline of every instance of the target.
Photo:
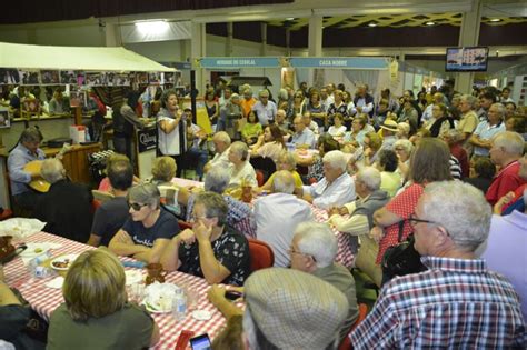
<svg viewBox="0 0 527 350">
<path fill-rule="evenodd" d="M 321 209 L 330 207 L 341 207 L 355 200 L 355 182 L 351 177 L 345 172 L 334 182 L 328 183 L 326 178 L 311 186 L 302 186 L 304 193 L 310 194 L 312 204 Z"/>
</svg>

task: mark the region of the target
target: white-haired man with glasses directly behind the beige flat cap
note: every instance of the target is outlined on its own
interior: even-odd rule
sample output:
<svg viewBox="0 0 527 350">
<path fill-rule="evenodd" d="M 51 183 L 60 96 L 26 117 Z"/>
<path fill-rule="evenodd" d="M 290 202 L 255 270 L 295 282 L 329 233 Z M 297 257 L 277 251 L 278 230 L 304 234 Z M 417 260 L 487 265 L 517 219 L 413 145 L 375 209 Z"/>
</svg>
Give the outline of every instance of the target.
<svg viewBox="0 0 527 350">
<path fill-rule="evenodd" d="M 295 230 L 290 243 L 291 269 L 316 276 L 340 290 L 348 299 L 348 313 L 340 327 L 344 339 L 359 312 L 355 291 L 355 280 L 348 269 L 335 262 L 337 237 L 325 223 L 304 222 Z"/>
</svg>

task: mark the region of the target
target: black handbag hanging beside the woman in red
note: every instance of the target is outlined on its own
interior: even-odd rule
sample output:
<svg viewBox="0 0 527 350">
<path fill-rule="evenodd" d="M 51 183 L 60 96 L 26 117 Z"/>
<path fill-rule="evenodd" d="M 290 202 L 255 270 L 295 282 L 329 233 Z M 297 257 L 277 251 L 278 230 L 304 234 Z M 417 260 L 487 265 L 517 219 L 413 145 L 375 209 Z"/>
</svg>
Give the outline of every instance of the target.
<svg viewBox="0 0 527 350">
<path fill-rule="evenodd" d="M 414 232 L 401 242 L 405 222 L 406 220 L 399 221 L 398 244 L 388 248 L 382 257 L 382 272 L 389 277 L 389 279 L 396 276 L 418 273 L 426 270 L 420 259 L 421 256 L 414 248 Z"/>
</svg>

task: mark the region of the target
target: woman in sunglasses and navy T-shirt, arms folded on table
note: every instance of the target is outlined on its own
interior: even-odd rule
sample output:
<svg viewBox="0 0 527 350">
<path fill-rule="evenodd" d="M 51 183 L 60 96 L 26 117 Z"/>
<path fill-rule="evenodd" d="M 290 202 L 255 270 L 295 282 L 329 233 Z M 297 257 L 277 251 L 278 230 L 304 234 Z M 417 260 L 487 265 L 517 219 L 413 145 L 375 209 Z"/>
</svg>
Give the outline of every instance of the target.
<svg viewBox="0 0 527 350">
<path fill-rule="evenodd" d="M 159 262 L 165 247 L 179 233 L 178 219 L 160 207 L 160 193 L 153 183 L 132 187 L 127 201 L 130 218 L 108 248 L 118 256 Z"/>
</svg>

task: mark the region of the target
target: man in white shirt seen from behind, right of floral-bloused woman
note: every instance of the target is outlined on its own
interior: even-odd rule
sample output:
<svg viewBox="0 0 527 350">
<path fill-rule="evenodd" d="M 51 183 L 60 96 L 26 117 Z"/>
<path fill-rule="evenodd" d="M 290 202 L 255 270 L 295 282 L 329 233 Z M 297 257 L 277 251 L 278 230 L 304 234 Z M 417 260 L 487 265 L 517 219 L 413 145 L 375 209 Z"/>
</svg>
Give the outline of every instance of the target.
<svg viewBox="0 0 527 350">
<path fill-rule="evenodd" d="M 277 171 L 272 179 L 272 194 L 261 197 L 255 202 L 257 238 L 271 246 L 275 252 L 275 267 L 288 267 L 288 250 L 295 228 L 311 221 L 311 208 L 306 201 L 292 194 L 295 179 L 290 171 Z"/>
</svg>

